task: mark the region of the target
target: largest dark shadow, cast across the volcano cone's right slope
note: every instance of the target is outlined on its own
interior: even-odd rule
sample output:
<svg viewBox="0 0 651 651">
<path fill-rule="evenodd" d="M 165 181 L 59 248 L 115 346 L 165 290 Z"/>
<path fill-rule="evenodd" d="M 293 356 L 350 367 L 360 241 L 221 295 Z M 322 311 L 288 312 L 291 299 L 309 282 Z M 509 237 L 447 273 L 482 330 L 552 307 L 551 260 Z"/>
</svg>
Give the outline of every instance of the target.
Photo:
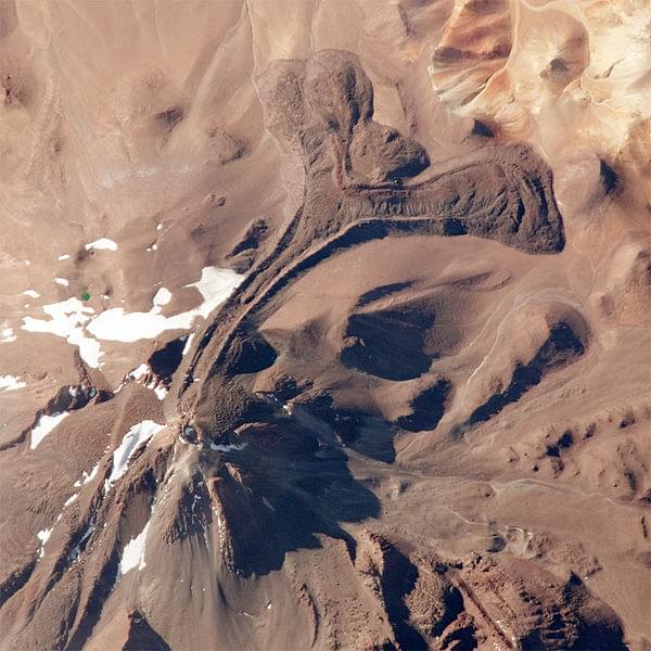
<svg viewBox="0 0 651 651">
<path fill-rule="evenodd" d="M 320 548 L 319 535 L 344 540 L 353 557 L 355 541 L 340 523 L 376 518 L 380 502 L 353 477 L 345 454 L 292 419 L 248 423 L 239 441 L 246 444 L 241 450 L 201 454 L 202 473 L 213 477 L 207 484 L 228 531 L 227 566 L 241 576 L 268 574 L 282 566 L 288 552 Z M 214 526 L 206 502 L 199 518 Z"/>
</svg>

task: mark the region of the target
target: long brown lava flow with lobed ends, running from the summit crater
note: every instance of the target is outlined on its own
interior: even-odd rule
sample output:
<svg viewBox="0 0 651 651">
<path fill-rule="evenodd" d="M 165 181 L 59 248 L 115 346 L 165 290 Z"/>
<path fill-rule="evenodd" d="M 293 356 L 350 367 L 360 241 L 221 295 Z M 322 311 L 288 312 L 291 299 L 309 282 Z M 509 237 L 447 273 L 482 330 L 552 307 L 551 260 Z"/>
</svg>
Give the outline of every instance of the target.
<svg viewBox="0 0 651 651">
<path fill-rule="evenodd" d="M 214 376 L 232 374 L 235 341 L 247 341 L 264 306 L 343 250 L 403 234 L 472 234 L 526 253 L 562 251 L 551 171 L 531 148 L 485 148 L 431 166 L 419 143 L 372 119 L 372 85 L 353 54 L 276 62 L 260 97 L 269 130 L 305 170 L 303 204 L 195 348 L 179 395 L 181 416 L 200 410 L 195 425 L 209 411 Z M 426 169 L 426 180 L 407 182 Z"/>
</svg>

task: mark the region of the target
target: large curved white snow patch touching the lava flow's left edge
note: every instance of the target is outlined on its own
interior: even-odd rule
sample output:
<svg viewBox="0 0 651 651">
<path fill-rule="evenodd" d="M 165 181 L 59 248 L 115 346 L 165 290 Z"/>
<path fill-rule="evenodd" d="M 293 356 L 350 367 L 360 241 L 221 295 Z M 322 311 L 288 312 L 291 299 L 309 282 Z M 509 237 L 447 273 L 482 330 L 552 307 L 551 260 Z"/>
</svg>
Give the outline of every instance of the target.
<svg viewBox="0 0 651 651">
<path fill-rule="evenodd" d="M 194 309 L 164 317 L 161 306 L 153 305 L 149 312 L 127 312 L 115 307 L 103 311 L 87 326 L 87 330 L 99 340 L 136 342 L 154 339 L 165 330 L 188 330 L 195 317 L 206 318 L 242 282 L 243 276 L 231 269 L 204 267 L 201 279 L 188 284 L 196 288 L 204 301 Z"/>
</svg>

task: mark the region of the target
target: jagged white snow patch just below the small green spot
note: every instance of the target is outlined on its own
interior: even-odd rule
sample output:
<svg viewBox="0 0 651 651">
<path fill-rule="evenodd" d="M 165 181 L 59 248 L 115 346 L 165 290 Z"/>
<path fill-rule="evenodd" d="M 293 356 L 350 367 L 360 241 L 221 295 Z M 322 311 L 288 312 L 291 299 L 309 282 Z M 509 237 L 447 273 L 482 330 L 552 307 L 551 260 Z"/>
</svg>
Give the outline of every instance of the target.
<svg viewBox="0 0 651 651">
<path fill-rule="evenodd" d="M 97 369 L 100 366 L 101 352 L 100 342 L 84 334 L 84 324 L 87 323 L 94 310 L 81 303 L 78 298 L 68 298 L 61 303 L 43 305 L 41 308 L 51 317 L 49 321 L 23 317 L 23 330 L 28 332 L 49 332 L 64 337 L 68 344 L 79 348 L 81 359 Z"/>
</svg>

